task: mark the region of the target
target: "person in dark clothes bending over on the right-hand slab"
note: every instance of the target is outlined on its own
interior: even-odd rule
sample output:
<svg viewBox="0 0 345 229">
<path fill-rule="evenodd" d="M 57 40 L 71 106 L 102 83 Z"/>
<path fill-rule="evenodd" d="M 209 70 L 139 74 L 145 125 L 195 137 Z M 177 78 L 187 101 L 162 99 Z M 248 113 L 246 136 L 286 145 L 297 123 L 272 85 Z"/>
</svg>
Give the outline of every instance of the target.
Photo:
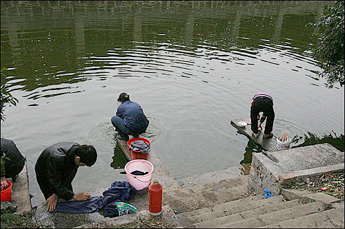
<svg viewBox="0 0 345 229">
<path fill-rule="evenodd" d="M 260 118 L 259 113 L 263 112 Z M 267 120 L 266 120 L 267 118 Z M 257 121 L 259 120 L 259 124 Z M 266 120 L 264 138 L 273 137 L 273 121 L 275 120 L 275 111 L 273 109 L 273 98 L 269 94 L 259 92 L 255 94 L 250 106 L 250 122 L 252 135 L 259 136 L 259 131 L 262 131 L 262 122 Z"/>
</svg>

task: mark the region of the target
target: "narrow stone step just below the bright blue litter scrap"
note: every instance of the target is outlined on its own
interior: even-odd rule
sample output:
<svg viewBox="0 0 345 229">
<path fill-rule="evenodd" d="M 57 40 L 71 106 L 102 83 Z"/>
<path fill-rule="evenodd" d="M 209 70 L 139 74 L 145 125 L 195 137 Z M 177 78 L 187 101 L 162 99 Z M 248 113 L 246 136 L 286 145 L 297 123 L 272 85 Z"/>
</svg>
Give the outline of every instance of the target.
<svg viewBox="0 0 345 229">
<path fill-rule="evenodd" d="M 229 222 L 250 219 L 250 218 L 257 217 L 259 215 L 264 215 L 266 213 L 276 212 L 278 210 L 284 210 L 287 208 L 300 206 L 302 204 L 303 202 L 300 199 L 295 199 L 293 201 L 280 202 L 280 203 L 279 201 L 277 201 L 277 203 L 266 204 L 266 206 L 262 206 L 260 208 L 255 208 L 255 209 L 247 210 L 244 212 L 237 212 L 232 215 L 226 215 L 225 217 L 219 217 L 216 219 L 203 221 L 201 223 L 196 223 L 195 227 L 196 228 L 211 228 L 215 225 L 221 225 L 221 224 L 226 224 Z M 204 219 L 207 219 L 207 218 L 204 218 Z M 190 228 L 190 226 L 188 226 L 188 228 Z"/>
</svg>

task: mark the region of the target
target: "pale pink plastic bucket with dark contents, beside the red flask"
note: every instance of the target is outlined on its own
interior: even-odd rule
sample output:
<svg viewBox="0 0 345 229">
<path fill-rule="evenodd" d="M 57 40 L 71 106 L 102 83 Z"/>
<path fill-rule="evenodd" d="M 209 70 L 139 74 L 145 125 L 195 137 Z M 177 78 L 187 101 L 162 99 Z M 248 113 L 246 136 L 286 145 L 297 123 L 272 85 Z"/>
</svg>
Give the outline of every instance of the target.
<svg viewBox="0 0 345 229">
<path fill-rule="evenodd" d="M 141 171 L 141 172 L 148 172 L 146 175 L 132 175 L 133 171 Z M 127 182 L 135 188 L 135 190 L 139 191 L 139 193 L 147 192 L 148 186 L 151 183 L 152 179 L 152 173 L 153 173 L 154 167 L 151 162 L 148 160 L 131 160 L 130 162 L 127 162 L 125 165 L 125 171 L 127 175 Z"/>
</svg>

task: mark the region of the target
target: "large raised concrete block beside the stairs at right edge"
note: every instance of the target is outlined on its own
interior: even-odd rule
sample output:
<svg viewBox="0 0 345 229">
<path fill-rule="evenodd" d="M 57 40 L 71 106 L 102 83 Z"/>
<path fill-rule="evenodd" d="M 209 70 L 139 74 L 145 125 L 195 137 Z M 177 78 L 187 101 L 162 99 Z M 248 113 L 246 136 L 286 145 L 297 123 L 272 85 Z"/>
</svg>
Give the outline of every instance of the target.
<svg viewBox="0 0 345 229">
<path fill-rule="evenodd" d="M 268 157 L 270 155 L 270 157 Z M 276 160 L 271 160 L 274 157 Z M 279 195 L 282 184 L 306 176 L 344 170 L 344 153 L 331 144 L 254 153 L 249 185 L 257 193 L 264 188 Z"/>
</svg>

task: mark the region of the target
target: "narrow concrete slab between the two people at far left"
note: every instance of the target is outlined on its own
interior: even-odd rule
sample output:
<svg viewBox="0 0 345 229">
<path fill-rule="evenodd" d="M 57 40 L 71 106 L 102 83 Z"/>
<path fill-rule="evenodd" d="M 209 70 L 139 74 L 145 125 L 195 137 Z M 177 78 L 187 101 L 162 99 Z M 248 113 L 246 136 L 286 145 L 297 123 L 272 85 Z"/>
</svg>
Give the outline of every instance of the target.
<svg viewBox="0 0 345 229">
<path fill-rule="evenodd" d="M 26 155 L 23 156 L 26 157 Z M 13 182 L 11 202 L 17 205 L 17 212 L 19 214 L 29 212 L 32 208 L 29 193 L 27 162 L 25 162 L 23 170 L 19 173 L 16 181 Z"/>
</svg>

